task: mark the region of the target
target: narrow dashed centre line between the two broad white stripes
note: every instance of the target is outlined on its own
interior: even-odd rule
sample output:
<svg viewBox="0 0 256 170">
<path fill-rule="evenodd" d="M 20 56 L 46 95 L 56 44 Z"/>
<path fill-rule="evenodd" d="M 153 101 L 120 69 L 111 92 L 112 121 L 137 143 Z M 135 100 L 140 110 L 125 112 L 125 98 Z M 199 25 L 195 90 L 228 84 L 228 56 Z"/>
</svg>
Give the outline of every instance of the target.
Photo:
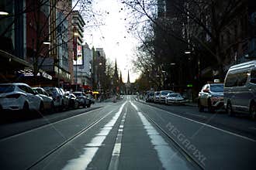
<svg viewBox="0 0 256 170">
<path fill-rule="evenodd" d="M 109 168 L 108 168 L 109 170 L 117 170 L 118 169 L 119 156 L 120 156 L 121 148 L 122 148 L 123 126 L 124 126 L 124 122 L 126 120 L 126 113 L 127 113 L 127 107 L 126 107 L 125 114 L 123 114 L 123 118 L 119 125 L 118 133 L 116 135 L 116 143 L 112 150 L 112 157 L 111 157 L 111 160 L 109 163 Z"/>
</svg>

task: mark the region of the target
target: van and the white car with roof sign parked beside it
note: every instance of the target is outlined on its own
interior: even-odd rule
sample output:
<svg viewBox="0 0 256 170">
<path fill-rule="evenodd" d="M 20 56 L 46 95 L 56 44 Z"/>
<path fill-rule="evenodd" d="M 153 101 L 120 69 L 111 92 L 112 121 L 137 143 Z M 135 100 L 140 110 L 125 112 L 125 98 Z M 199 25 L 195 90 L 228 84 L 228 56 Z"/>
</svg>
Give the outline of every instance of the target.
<svg viewBox="0 0 256 170">
<path fill-rule="evenodd" d="M 231 66 L 224 83 L 207 83 L 199 92 L 199 111 L 223 107 L 227 114 L 249 114 L 256 119 L 256 60 Z"/>
</svg>

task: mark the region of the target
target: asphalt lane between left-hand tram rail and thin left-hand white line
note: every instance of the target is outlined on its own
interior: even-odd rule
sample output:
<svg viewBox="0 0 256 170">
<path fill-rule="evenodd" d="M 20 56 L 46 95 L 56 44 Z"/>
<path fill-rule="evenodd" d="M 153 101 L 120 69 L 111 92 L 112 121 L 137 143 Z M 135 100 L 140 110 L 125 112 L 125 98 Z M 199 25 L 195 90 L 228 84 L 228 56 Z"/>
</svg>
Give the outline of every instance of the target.
<svg viewBox="0 0 256 170">
<path fill-rule="evenodd" d="M 36 128 L 10 138 L 0 140 L 0 167 L 2 169 L 25 169 L 49 151 L 61 145 L 68 138 L 88 127 L 95 120 L 104 117 L 118 105 L 109 105 L 101 110 L 57 121 L 42 128 Z"/>
</svg>

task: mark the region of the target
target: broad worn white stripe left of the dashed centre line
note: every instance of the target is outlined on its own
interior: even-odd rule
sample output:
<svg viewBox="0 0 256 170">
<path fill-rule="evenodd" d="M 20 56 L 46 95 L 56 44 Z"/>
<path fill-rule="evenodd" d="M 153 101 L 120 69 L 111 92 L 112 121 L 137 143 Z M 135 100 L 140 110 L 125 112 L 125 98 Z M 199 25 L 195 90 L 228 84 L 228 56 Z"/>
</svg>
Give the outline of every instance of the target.
<svg viewBox="0 0 256 170">
<path fill-rule="evenodd" d="M 102 146 L 103 141 L 106 139 L 109 132 L 112 130 L 113 126 L 116 124 L 116 121 L 120 114 L 122 113 L 123 107 L 126 104 L 122 104 L 119 108 L 119 111 L 116 112 L 115 116 L 112 117 L 111 121 L 109 121 L 104 128 L 98 133 L 95 134 L 95 138 L 92 138 L 92 141 L 85 145 L 84 153 L 79 156 L 79 158 L 74 158 L 68 161 L 67 165 L 64 166 L 64 170 L 84 170 L 88 167 L 90 162 L 92 162 L 92 158 L 94 158 L 96 152 L 99 150 L 99 147 Z M 104 134 L 99 136 L 99 134 Z"/>
</svg>

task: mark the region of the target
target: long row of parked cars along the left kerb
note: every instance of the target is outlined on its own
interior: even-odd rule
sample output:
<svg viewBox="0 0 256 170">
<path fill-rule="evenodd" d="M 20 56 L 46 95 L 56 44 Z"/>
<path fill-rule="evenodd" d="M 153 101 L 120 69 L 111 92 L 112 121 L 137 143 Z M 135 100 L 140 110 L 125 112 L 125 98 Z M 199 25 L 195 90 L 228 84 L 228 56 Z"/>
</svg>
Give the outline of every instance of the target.
<svg viewBox="0 0 256 170">
<path fill-rule="evenodd" d="M 91 94 L 64 92 L 58 87 L 29 87 L 26 83 L 0 84 L 0 110 L 46 110 L 76 109 L 79 106 L 91 107 Z"/>
</svg>

